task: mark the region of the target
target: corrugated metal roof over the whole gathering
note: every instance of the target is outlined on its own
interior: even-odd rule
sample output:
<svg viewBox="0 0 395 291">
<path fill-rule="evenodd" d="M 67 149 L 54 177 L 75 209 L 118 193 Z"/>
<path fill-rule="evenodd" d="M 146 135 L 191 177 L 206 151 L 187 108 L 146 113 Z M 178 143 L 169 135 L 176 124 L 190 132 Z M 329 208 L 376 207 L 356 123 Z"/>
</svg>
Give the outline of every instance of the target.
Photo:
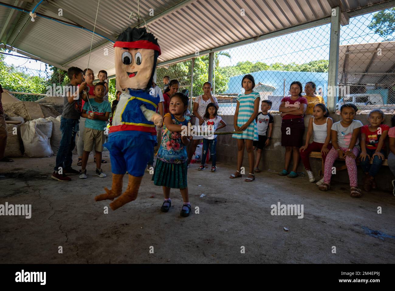
<svg viewBox="0 0 395 291">
<path fill-rule="evenodd" d="M 12 0 L 3 1 L 11 5 L 15 3 Z M 26 9 L 30 11 L 36 2 L 28 3 Z M 148 28 L 158 38 L 162 49 L 158 63 L 161 63 L 193 55 L 196 50 L 213 49 L 328 17 L 331 14 L 331 5 L 335 2 L 337 1 L 148 0 L 140 1 L 139 8 L 141 17 L 147 20 Z M 340 2 L 343 10 L 349 11 L 386 1 Z M 42 2 L 36 12 L 93 29 L 97 3 L 96 0 L 48 0 Z M 63 10 L 63 17 L 57 14 L 60 8 Z M 0 10 L 0 23 L 4 25 L 7 13 L 11 10 L 4 6 L 0 6 Z M 136 24 L 135 19 L 129 19 L 132 11 L 137 12 L 137 0 L 100 1 L 96 31 L 115 39 L 126 27 Z M 151 16 L 150 12 L 154 15 Z M 40 17 L 35 22 L 29 19 L 29 15 L 23 13 L 7 44 L 47 59 L 59 67 L 87 65 L 91 32 Z M 95 36 L 92 48 L 90 67 L 94 70 L 107 69 L 109 74 L 115 72 L 111 43 Z M 108 56 L 104 55 L 104 48 L 108 49 Z"/>
</svg>

